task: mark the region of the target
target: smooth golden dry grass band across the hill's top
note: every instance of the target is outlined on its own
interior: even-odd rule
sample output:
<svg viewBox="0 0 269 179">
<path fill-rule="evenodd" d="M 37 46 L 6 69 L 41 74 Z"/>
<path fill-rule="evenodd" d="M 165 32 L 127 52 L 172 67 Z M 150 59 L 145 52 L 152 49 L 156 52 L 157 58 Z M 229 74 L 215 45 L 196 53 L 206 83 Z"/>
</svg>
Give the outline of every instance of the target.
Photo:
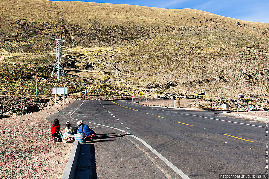
<svg viewBox="0 0 269 179">
<path fill-rule="evenodd" d="M 0 1 L 2 30 L 9 23 L 27 21 L 96 25 L 197 26 L 219 27 L 262 38 L 269 37 L 269 23 L 242 21 L 194 9 L 162 9 L 125 4 L 105 4 L 78 1 L 10 0 Z M 195 17 L 193 20 L 192 17 Z M 7 21 L 9 20 L 9 21 Z M 239 21 L 242 25 L 236 26 Z M 254 28 L 253 28 L 254 27 Z M 265 33 L 267 32 L 267 33 Z"/>
</svg>

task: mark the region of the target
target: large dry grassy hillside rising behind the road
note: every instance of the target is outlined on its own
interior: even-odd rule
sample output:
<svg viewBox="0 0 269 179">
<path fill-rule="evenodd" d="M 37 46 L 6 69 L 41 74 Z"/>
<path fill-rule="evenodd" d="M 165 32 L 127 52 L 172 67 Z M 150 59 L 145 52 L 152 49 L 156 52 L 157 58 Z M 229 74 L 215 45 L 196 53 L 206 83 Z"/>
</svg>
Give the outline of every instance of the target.
<svg viewBox="0 0 269 179">
<path fill-rule="evenodd" d="M 83 94 L 86 87 L 98 95 L 127 94 L 133 89 L 162 93 L 171 81 L 175 90 L 184 93 L 269 92 L 268 23 L 193 9 L 0 2 L 2 94 L 18 94 L 22 89 L 33 93 L 29 87 L 34 85 L 33 69 L 45 72 L 39 75 L 40 87 L 69 85 L 74 94 Z M 66 36 L 63 53 L 68 58 L 63 60 L 68 84 L 48 81 L 55 58 L 49 51 L 55 46 L 51 38 L 58 36 Z"/>
</svg>

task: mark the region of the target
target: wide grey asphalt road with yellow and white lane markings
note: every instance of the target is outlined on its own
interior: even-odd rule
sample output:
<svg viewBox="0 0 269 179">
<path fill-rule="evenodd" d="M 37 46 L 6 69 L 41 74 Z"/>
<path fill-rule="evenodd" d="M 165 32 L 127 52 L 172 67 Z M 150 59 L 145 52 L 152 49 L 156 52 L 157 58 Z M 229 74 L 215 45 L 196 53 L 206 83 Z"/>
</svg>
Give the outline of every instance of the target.
<svg viewBox="0 0 269 179">
<path fill-rule="evenodd" d="M 112 153 L 117 156 L 119 152 L 124 157 L 137 150 L 145 161 L 149 158 L 156 166 L 149 168 L 159 172 L 147 174 L 143 168 L 145 173 L 140 178 L 156 178 L 152 173 L 159 173 L 157 178 L 217 179 L 219 173 L 265 172 L 265 123 L 262 122 L 216 111 L 155 108 L 131 101 L 78 100 L 56 115 L 91 122 L 86 124 L 117 131 L 119 135 L 133 134 L 136 138 L 124 137 L 134 146 Z M 143 165 L 147 165 L 146 162 Z M 98 168 L 98 163 L 96 166 Z M 117 164 L 114 166 L 117 168 Z M 98 170 L 96 172 L 98 176 Z M 102 176 L 98 178 L 106 178 Z"/>
</svg>

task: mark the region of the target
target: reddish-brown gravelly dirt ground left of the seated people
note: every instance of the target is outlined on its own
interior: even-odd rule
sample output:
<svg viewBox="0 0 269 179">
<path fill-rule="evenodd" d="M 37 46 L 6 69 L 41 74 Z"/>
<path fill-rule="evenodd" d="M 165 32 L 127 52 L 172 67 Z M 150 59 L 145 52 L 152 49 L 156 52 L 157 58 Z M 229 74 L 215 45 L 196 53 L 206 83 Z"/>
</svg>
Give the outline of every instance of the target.
<svg viewBox="0 0 269 179">
<path fill-rule="evenodd" d="M 6 131 L 0 135 L 0 178 L 61 178 L 73 143 L 49 142 L 52 124 L 45 118 L 74 100 L 65 101 L 65 106 L 58 104 L 56 108 L 53 105 L 39 112 L 0 119 L 0 130 Z"/>
</svg>

